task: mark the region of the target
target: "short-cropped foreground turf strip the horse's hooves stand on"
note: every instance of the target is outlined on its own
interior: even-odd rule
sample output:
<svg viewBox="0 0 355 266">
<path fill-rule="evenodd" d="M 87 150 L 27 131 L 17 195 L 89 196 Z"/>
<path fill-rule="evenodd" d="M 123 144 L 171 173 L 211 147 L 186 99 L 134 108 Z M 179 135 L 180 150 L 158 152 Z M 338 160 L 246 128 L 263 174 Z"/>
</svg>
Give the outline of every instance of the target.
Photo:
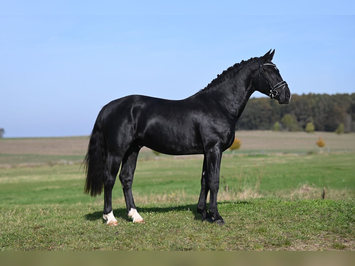
<svg viewBox="0 0 355 266">
<path fill-rule="evenodd" d="M 354 200 L 220 202 L 225 226 L 201 222 L 195 203 L 147 204 L 146 224 L 101 204 L 1 206 L 1 250 L 354 250 Z"/>
</svg>

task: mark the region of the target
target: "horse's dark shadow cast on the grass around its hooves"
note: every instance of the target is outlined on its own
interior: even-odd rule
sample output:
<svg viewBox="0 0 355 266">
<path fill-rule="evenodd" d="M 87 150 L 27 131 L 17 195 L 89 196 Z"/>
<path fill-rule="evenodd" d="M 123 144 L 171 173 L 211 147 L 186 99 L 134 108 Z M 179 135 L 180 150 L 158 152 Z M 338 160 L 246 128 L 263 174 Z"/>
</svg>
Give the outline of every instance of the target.
<svg viewBox="0 0 355 266">
<path fill-rule="evenodd" d="M 222 201 L 219 204 L 229 204 L 229 201 Z M 249 204 L 249 201 L 234 201 L 233 204 Z M 207 209 L 208 209 L 207 203 Z M 195 220 L 201 220 L 202 216 L 197 212 L 197 204 L 186 204 L 186 205 L 179 205 L 179 206 L 171 206 L 171 207 L 137 207 L 137 211 L 140 214 L 149 213 L 149 212 L 171 212 L 171 211 L 191 211 L 194 214 Z M 118 208 L 114 209 L 113 213 L 116 218 L 122 218 L 126 221 L 131 221 L 131 219 L 127 216 L 127 209 L 126 208 Z M 102 211 L 95 211 L 85 215 L 86 220 L 88 221 L 95 221 L 102 219 Z"/>
</svg>

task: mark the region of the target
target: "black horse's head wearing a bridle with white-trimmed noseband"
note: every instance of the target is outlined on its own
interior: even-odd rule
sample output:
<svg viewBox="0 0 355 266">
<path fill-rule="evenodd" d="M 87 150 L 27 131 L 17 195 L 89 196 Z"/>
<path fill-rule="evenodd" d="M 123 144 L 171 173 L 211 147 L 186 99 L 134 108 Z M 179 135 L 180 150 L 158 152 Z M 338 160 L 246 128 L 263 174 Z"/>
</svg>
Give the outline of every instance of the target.
<svg viewBox="0 0 355 266">
<path fill-rule="evenodd" d="M 285 81 L 283 81 L 280 71 L 276 68 L 271 60 L 274 56 L 275 49 L 268 51 L 264 56 L 258 58 L 259 73 L 256 82 L 256 90 L 268 95 L 271 99 L 276 99 L 279 104 L 288 104 L 292 94 Z"/>
</svg>

